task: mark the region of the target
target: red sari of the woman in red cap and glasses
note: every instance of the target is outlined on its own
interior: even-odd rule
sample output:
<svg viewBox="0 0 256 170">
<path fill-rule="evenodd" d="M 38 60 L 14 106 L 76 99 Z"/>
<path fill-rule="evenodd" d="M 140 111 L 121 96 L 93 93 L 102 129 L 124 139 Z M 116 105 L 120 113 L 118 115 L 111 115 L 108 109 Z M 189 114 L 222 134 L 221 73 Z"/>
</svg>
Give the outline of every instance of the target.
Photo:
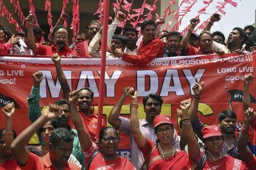
<svg viewBox="0 0 256 170">
<path fill-rule="evenodd" d="M 155 145 L 154 142 L 147 139 L 147 145 L 144 148 L 139 148 L 143 157 L 147 158 L 151 148 Z M 172 157 L 163 159 L 161 153 L 156 147 L 148 159 L 148 169 L 190 169 L 189 155 L 183 150 L 176 152 Z"/>
</svg>

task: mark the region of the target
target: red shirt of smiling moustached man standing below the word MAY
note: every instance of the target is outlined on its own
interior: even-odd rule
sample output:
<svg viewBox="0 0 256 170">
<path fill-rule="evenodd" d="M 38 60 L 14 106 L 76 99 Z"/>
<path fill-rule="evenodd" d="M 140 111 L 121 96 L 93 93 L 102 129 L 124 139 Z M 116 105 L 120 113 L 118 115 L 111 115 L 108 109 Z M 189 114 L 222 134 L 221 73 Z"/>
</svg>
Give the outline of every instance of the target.
<svg viewBox="0 0 256 170">
<path fill-rule="evenodd" d="M 87 130 L 87 132 L 90 134 L 90 137 L 93 142 L 96 141 L 97 137 L 97 123 L 98 123 L 98 115 L 95 115 L 95 113 L 92 111 L 92 115 L 85 116 L 82 111 L 79 110 L 79 114 L 83 121 L 83 127 Z M 75 126 L 73 123 L 70 123 L 70 126 L 75 129 Z M 105 121 L 102 119 L 102 127 L 106 127 Z"/>
</svg>

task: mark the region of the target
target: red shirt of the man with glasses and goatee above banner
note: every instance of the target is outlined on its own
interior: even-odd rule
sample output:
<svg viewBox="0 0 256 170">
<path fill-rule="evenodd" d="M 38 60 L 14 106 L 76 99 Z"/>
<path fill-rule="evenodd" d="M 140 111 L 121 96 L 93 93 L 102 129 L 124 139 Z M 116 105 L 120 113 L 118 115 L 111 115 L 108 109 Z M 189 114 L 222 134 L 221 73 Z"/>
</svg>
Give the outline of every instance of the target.
<svg viewBox="0 0 256 170">
<path fill-rule="evenodd" d="M 42 45 L 42 44 L 36 44 L 36 46 L 38 47 L 38 50 L 35 52 L 36 55 L 49 55 L 52 56 L 53 54 L 56 53 L 56 50 L 54 48 L 54 46 L 46 46 L 46 45 Z M 75 52 L 74 50 L 70 49 L 69 47 L 66 47 L 66 49 L 64 49 L 64 51 L 59 51 L 58 54 L 60 56 L 64 55 L 66 57 L 74 57 L 77 56 L 77 52 Z"/>
</svg>

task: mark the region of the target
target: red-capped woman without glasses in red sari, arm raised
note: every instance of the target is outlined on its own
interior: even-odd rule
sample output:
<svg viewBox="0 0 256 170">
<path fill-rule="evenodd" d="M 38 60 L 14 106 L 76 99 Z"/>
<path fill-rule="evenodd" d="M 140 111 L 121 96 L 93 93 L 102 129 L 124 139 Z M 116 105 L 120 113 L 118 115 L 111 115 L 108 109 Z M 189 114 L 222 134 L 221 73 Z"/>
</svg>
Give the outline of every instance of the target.
<svg viewBox="0 0 256 170">
<path fill-rule="evenodd" d="M 182 101 L 181 109 L 186 107 L 190 102 L 191 99 Z M 221 154 L 223 137 L 220 126 L 211 125 L 203 127 L 202 134 L 205 151 L 200 150 L 197 140 L 194 137 L 189 114 L 187 111 L 181 111 L 181 113 L 182 136 L 187 138 L 189 157 L 198 164 L 197 169 L 247 169 L 243 161 Z"/>
</svg>

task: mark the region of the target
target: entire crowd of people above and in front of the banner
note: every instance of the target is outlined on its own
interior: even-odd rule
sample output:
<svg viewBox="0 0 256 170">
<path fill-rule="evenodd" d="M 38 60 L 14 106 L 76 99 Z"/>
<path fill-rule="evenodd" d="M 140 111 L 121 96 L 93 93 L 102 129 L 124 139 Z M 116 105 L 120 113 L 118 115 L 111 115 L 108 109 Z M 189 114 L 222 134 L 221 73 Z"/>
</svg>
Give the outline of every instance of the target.
<svg viewBox="0 0 256 170">
<path fill-rule="evenodd" d="M 244 76 L 244 113 L 223 110 L 218 115 L 218 124 L 211 126 L 205 126 L 198 118 L 198 103 L 206 85 L 195 79 L 192 99 L 182 100 L 177 110 L 181 118 L 181 136 L 177 135 L 171 116 L 160 115 L 163 99 L 158 94 L 143 98 L 145 118 L 139 119 L 137 90 L 131 84 L 124 87 L 108 116 L 111 126 L 106 126 L 102 120 L 97 139 L 98 116 L 91 109 L 93 91 L 88 87 L 70 90 L 61 58 L 101 58 L 102 27 L 92 20 L 86 33 L 76 34 L 75 41 L 69 45 L 69 32 L 62 25 L 68 18 L 67 14 L 61 14 L 49 34 L 49 42 L 41 42 L 45 32 L 34 25 L 33 14 L 26 18 L 26 33 L 17 32 L 10 36 L 8 29 L 1 27 L 0 55 L 51 56 L 61 84 L 62 99 L 49 104 L 41 113 L 43 74 L 40 71 L 33 73 L 32 91 L 27 98 L 28 118 L 32 124 L 17 136 L 12 129 L 14 103 L 2 108 L 6 128 L 0 130 L 0 169 L 256 169 L 256 157 L 247 146 L 249 127 L 256 130 L 256 113 L 249 94 L 254 78 L 251 74 Z M 135 28 L 125 27 L 122 34 L 115 34 L 117 25 L 124 18 L 123 14 L 117 14 L 108 27 L 107 58 L 147 65 L 156 57 L 223 55 L 256 49 L 254 26 L 235 27 L 227 40 L 220 31 L 210 33 L 211 26 L 220 20 L 218 14 L 211 15 L 199 35 L 193 33 L 198 23 L 196 18 L 190 20 L 190 28 L 184 35 L 177 31 L 160 31 L 158 25 L 164 22 L 161 18 L 145 20 L 140 33 Z M 130 99 L 130 118 L 120 116 L 127 98 Z M 236 114 L 244 115 L 239 138 L 234 136 Z M 116 154 L 117 131 L 130 137 L 130 160 Z M 40 145 L 28 145 L 35 133 Z"/>
</svg>

